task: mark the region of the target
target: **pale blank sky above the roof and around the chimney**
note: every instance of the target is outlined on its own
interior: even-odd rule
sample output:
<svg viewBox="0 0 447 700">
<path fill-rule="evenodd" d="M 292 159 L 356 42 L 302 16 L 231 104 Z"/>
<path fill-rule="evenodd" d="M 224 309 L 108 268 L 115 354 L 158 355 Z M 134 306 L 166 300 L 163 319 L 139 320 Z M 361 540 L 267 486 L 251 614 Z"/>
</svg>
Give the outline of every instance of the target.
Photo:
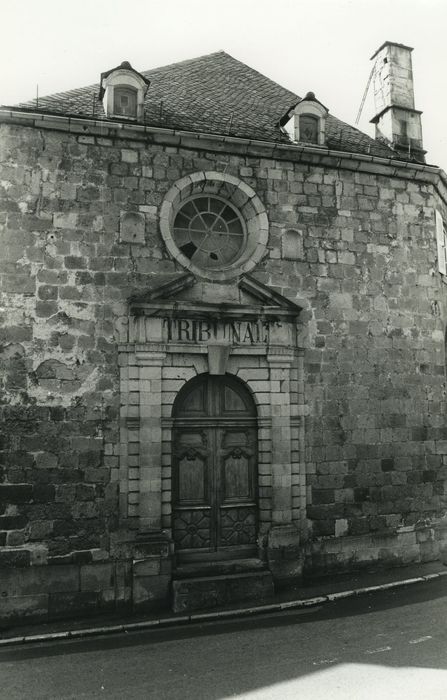
<svg viewBox="0 0 447 700">
<path fill-rule="evenodd" d="M 384 41 L 414 47 L 427 162 L 447 170 L 446 0 L 0 0 L 0 104 L 225 50 L 354 125 Z M 374 135 L 372 90 L 358 128 Z"/>
</svg>

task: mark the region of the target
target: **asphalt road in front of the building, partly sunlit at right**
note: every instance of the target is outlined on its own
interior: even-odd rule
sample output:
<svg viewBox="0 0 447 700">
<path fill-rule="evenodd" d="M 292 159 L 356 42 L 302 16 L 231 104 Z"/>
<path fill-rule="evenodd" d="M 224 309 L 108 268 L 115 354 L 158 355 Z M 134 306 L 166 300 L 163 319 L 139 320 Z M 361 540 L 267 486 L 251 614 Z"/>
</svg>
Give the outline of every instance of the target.
<svg viewBox="0 0 447 700">
<path fill-rule="evenodd" d="M 447 583 L 0 651 L 0 698 L 447 700 Z"/>
</svg>

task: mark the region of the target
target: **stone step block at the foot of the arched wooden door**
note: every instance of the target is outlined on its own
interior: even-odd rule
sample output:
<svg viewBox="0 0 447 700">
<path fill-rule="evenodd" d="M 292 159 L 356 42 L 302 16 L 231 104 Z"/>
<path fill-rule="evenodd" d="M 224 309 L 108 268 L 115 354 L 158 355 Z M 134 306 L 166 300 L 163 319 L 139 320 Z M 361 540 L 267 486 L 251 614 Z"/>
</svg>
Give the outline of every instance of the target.
<svg viewBox="0 0 447 700">
<path fill-rule="evenodd" d="M 174 612 L 192 612 L 244 600 L 260 602 L 273 592 L 270 571 L 174 579 L 172 609 Z"/>
</svg>

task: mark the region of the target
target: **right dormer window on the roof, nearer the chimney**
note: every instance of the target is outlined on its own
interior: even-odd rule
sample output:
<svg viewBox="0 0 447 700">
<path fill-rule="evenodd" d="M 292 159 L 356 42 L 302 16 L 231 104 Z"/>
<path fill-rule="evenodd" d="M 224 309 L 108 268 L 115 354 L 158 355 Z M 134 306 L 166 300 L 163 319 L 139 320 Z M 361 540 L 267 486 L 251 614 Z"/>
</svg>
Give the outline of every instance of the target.
<svg viewBox="0 0 447 700">
<path fill-rule="evenodd" d="M 295 143 L 324 146 L 326 143 L 326 117 L 328 109 L 308 92 L 281 120 L 284 130 Z"/>
</svg>

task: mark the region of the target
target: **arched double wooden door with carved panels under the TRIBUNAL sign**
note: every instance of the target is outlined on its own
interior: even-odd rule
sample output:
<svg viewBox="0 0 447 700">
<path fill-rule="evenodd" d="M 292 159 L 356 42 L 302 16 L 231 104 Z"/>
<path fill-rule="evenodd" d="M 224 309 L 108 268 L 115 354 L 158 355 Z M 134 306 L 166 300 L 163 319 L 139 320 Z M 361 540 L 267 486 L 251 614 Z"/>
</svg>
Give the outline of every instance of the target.
<svg viewBox="0 0 447 700">
<path fill-rule="evenodd" d="M 257 553 L 257 419 L 246 386 L 202 374 L 173 407 L 173 538 L 179 561 Z"/>
</svg>

